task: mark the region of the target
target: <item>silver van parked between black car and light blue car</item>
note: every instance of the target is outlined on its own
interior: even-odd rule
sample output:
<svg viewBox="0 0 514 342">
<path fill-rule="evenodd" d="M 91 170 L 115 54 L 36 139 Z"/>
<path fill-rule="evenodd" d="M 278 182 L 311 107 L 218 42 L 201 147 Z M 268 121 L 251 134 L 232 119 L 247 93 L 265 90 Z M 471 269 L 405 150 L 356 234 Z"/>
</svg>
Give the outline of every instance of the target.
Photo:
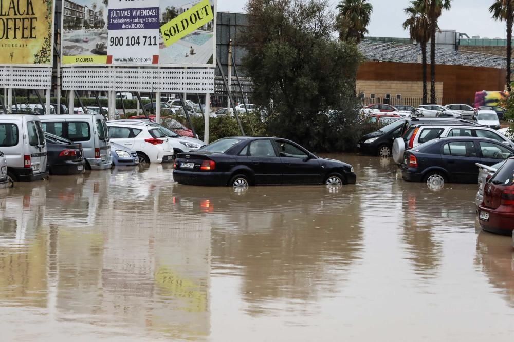
<svg viewBox="0 0 514 342">
<path fill-rule="evenodd" d="M 64 114 L 40 118 L 45 132 L 82 144 L 87 168 L 105 170 L 111 167 L 111 143 L 103 115 Z"/>
</svg>

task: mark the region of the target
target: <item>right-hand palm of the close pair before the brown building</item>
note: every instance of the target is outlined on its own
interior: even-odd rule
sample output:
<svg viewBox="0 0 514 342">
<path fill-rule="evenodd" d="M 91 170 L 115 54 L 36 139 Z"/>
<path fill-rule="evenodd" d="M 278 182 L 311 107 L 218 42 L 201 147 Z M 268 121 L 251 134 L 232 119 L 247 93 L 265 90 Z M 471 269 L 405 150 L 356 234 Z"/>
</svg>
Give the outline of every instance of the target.
<svg viewBox="0 0 514 342">
<path fill-rule="evenodd" d="M 420 8 L 430 19 L 430 101 L 435 103 L 435 31 L 443 10 L 449 10 L 451 0 L 420 0 Z"/>
</svg>

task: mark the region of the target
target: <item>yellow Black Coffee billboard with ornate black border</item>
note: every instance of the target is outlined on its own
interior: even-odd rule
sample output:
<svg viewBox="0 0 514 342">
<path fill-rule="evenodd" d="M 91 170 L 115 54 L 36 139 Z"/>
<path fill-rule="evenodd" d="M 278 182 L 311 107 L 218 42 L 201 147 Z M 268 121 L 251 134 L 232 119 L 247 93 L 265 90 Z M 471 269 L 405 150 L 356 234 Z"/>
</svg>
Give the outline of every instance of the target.
<svg viewBox="0 0 514 342">
<path fill-rule="evenodd" d="M 53 0 L 0 0 L 0 65 L 53 64 Z"/>
</svg>

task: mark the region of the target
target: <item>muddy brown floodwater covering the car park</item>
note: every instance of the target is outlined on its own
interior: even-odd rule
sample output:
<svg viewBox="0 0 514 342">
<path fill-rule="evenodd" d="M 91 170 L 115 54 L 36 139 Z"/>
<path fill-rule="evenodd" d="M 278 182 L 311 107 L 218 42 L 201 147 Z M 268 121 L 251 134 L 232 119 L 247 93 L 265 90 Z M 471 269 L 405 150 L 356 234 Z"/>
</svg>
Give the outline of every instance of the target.
<svg viewBox="0 0 514 342">
<path fill-rule="evenodd" d="M 174 184 L 171 165 L 0 192 L 2 341 L 511 341 L 512 239 L 476 185 Z"/>
</svg>

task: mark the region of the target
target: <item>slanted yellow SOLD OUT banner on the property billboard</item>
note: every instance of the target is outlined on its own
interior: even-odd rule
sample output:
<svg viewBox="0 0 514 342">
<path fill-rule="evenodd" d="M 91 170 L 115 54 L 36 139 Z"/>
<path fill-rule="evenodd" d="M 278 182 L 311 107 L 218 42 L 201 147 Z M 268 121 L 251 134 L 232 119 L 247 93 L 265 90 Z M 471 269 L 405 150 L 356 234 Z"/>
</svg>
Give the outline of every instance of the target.
<svg viewBox="0 0 514 342">
<path fill-rule="evenodd" d="M 171 22 L 161 26 L 164 45 L 167 47 L 172 45 L 212 20 L 214 20 L 214 14 L 211 4 L 209 0 L 204 0 L 189 11 L 180 14 Z"/>
</svg>

